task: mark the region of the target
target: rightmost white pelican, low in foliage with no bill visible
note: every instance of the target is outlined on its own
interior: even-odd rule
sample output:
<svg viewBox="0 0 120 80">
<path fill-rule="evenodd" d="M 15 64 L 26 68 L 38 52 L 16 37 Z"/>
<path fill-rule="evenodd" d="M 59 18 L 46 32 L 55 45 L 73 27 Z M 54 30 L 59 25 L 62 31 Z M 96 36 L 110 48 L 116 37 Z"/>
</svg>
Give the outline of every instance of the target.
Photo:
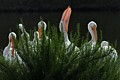
<svg viewBox="0 0 120 80">
<path fill-rule="evenodd" d="M 102 51 L 104 51 L 106 53 L 110 52 L 109 56 L 112 57 L 112 59 L 116 60 L 118 58 L 117 51 L 114 48 L 112 48 L 111 46 L 109 46 L 109 43 L 107 41 L 102 41 L 101 42 L 101 48 L 100 49 L 102 49 Z"/>
</svg>

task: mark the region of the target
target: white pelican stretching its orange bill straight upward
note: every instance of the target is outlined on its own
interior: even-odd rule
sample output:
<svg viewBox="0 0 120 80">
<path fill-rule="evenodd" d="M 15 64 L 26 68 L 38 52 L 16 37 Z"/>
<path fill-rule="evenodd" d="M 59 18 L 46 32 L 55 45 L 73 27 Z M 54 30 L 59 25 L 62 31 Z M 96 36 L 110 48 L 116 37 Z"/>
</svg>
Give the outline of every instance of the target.
<svg viewBox="0 0 120 80">
<path fill-rule="evenodd" d="M 68 52 L 70 48 L 73 46 L 73 43 L 71 44 L 68 38 L 68 33 L 67 33 L 71 12 L 72 12 L 71 7 L 68 6 L 67 9 L 63 12 L 61 21 L 59 23 L 59 29 L 60 29 L 60 32 L 63 32 L 64 34 L 65 47 L 66 49 L 68 49 Z M 79 48 L 75 46 L 75 51 L 77 50 L 79 50 Z"/>
</svg>

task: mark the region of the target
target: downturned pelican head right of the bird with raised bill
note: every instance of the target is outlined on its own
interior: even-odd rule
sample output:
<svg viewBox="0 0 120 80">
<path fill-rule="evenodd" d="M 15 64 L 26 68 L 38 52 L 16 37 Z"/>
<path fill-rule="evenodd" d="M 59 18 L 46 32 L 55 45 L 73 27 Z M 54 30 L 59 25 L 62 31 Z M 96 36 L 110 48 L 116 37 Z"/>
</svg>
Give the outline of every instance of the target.
<svg viewBox="0 0 120 80">
<path fill-rule="evenodd" d="M 96 44 L 97 42 L 97 24 L 94 21 L 88 23 L 88 30 L 92 36 L 92 41 Z"/>
</svg>

